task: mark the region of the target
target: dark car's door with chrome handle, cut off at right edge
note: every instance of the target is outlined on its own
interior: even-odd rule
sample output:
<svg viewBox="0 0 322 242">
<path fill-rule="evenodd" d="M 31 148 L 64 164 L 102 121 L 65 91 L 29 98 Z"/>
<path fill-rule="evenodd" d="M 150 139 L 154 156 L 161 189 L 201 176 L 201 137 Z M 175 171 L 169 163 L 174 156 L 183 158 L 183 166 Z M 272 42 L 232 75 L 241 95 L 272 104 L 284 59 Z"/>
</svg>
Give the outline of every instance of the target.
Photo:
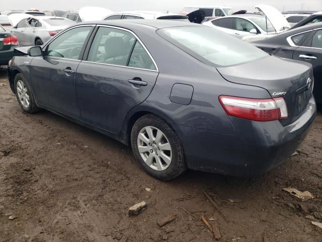
<svg viewBox="0 0 322 242">
<path fill-rule="evenodd" d="M 312 31 L 303 44 L 294 50 L 293 59 L 312 64 L 313 94 L 315 99 L 322 103 L 322 29 Z"/>
</svg>

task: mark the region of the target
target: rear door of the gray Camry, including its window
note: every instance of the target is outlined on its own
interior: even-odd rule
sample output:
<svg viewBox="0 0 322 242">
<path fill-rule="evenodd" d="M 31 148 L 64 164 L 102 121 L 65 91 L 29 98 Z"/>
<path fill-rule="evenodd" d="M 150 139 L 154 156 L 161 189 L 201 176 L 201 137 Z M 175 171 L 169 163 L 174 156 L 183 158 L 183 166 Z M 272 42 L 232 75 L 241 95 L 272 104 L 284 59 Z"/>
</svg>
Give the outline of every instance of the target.
<svg viewBox="0 0 322 242">
<path fill-rule="evenodd" d="M 87 51 L 76 72 L 82 119 L 119 133 L 126 114 L 151 92 L 156 64 L 142 42 L 120 28 L 100 26 Z"/>
</svg>

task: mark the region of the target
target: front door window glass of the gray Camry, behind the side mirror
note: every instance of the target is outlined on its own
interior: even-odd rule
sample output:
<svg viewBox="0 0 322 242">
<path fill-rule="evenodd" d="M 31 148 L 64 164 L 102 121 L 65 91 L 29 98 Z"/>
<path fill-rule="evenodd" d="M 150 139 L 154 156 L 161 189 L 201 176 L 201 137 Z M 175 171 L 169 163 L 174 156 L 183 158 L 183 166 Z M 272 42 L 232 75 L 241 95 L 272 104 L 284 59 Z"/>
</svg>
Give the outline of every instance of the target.
<svg viewBox="0 0 322 242">
<path fill-rule="evenodd" d="M 77 27 L 56 37 L 46 48 L 46 55 L 80 60 L 81 52 L 92 27 Z"/>
</svg>

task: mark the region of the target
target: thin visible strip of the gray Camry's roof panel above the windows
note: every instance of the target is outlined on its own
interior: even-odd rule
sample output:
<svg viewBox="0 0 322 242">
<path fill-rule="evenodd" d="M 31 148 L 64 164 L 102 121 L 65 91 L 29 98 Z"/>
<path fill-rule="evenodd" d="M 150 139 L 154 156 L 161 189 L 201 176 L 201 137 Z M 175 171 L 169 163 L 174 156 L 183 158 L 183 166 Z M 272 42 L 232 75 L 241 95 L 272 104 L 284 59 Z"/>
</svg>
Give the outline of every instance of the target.
<svg viewBox="0 0 322 242">
<path fill-rule="evenodd" d="M 182 21 L 175 21 L 175 20 L 152 20 L 152 19 L 122 19 L 122 20 L 101 20 L 101 21 L 91 21 L 91 22 L 83 22 L 78 23 L 76 25 L 84 25 L 84 24 L 98 24 L 98 25 L 112 25 L 121 28 L 128 28 L 131 27 L 153 27 L 155 29 L 162 29 L 162 28 L 170 28 L 170 27 L 183 27 L 183 26 L 201 26 L 200 24 L 194 24 L 190 22 L 182 22 Z M 75 25 L 74 25 L 75 26 Z"/>
</svg>

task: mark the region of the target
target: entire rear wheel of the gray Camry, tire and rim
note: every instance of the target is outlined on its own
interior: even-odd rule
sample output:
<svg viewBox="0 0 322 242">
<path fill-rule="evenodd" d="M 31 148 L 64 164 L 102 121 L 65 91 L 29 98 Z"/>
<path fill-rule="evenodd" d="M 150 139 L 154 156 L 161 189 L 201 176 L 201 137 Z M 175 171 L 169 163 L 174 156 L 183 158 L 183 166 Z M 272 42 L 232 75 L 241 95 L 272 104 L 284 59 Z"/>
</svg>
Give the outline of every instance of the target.
<svg viewBox="0 0 322 242">
<path fill-rule="evenodd" d="M 180 138 L 165 120 L 156 115 L 147 114 L 135 122 L 131 145 L 142 168 L 157 179 L 171 180 L 187 169 Z"/>
</svg>

